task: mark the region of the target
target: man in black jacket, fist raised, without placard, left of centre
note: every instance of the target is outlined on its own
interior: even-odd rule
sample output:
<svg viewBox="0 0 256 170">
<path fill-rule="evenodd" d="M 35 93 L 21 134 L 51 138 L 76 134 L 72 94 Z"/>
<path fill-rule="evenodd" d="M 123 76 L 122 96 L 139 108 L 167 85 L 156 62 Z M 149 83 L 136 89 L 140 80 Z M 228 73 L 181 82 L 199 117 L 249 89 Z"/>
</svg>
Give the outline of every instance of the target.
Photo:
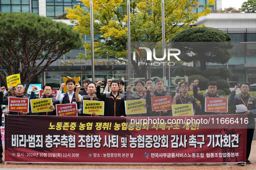
<svg viewBox="0 0 256 170">
<path fill-rule="evenodd" d="M 124 95 L 118 91 L 118 81 L 113 80 L 110 83 L 110 94 L 100 94 L 100 85 L 102 85 L 102 82 L 97 82 L 96 94 L 97 98 L 104 101 L 104 116 L 126 116 Z"/>
</svg>

